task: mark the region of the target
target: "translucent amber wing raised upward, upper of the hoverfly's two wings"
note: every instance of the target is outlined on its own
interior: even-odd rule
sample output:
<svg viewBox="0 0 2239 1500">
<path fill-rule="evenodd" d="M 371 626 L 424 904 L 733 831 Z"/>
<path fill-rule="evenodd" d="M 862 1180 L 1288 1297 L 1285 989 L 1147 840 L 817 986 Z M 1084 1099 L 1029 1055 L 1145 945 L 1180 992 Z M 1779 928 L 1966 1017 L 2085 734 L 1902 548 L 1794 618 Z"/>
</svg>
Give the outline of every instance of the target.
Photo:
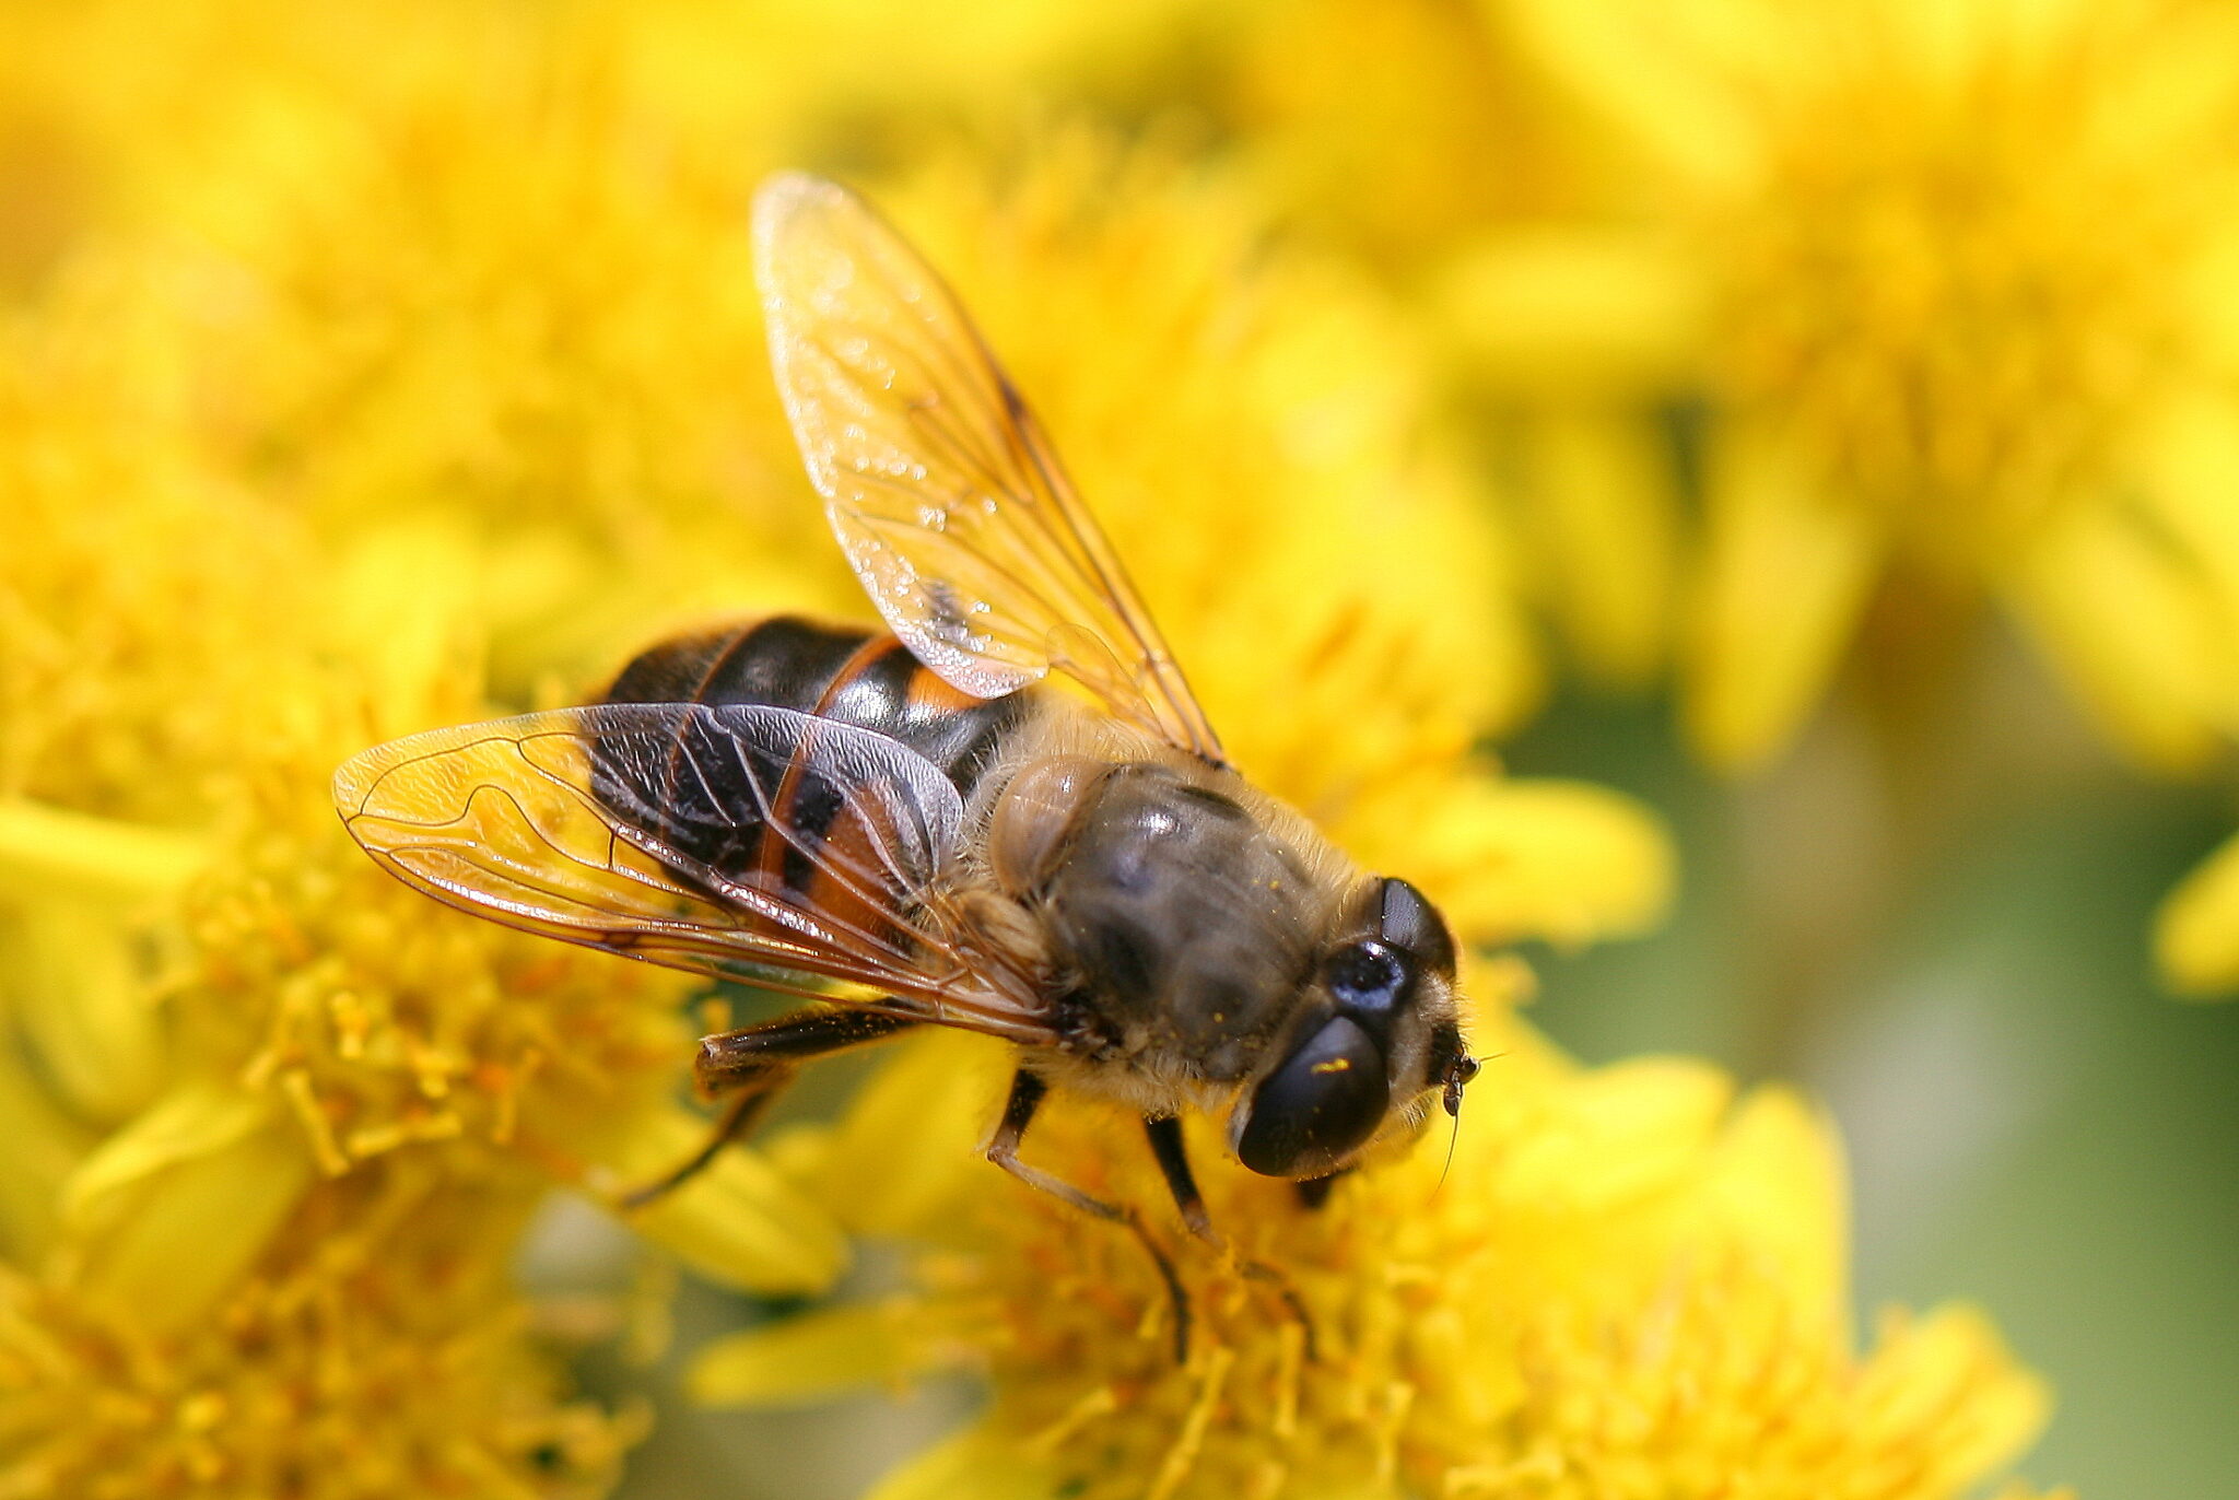
<svg viewBox="0 0 2239 1500">
<path fill-rule="evenodd" d="M 755 197 L 777 392 L 893 634 L 981 699 L 1061 672 L 1117 719 L 1220 741 L 956 296 L 869 206 L 786 172 Z"/>
</svg>

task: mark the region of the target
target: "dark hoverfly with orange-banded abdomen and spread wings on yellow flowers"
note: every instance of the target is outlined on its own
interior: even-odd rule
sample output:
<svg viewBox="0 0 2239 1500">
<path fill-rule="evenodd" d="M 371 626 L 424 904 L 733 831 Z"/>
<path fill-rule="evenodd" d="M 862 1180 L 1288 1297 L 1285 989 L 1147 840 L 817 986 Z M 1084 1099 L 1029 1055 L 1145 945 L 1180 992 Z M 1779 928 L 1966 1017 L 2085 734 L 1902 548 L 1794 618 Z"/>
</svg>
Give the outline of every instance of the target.
<svg viewBox="0 0 2239 1500">
<path fill-rule="evenodd" d="M 804 175 L 757 193 L 755 269 L 802 459 L 891 634 L 732 625 L 589 707 L 378 746 L 334 781 L 358 844 L 466 911 L 817 1001 L 701 1041 L 723 1128 L 656 1187 L 802 1061 L 914 1025 L 1017 1043 L 985 1155 L 1137 1234 L 1019 1160 L 1052 1086 L 1140 1113 L 1216 1245 L 1184 1108 L 1225 1108 L 1236 1157 L 1305 1189 L 1433 1090 L 1458 1113 L 1478 1063 L 1437 909 L 1222 759 L 954 293 Z"/>
</svg>

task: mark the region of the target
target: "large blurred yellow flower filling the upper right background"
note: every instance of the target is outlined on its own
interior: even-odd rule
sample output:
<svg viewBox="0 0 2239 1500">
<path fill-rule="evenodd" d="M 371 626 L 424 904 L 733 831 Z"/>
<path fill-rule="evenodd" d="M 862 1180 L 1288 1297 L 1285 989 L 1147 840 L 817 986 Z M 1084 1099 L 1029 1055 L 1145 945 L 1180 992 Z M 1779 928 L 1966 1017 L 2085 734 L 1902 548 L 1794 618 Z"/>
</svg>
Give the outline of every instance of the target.
<svg viewBox="0 0 2239 1500">
<path fill-rule="evenodd" d="M 1726 770 L 1773 763 L 1836 690 L 1917 768 L 1984 696 L 1995 622 L 2132 763 L 2228 763 L 2232 16 L 1478 9 L 1473 56 L 1525 58 L 1536 87 L 1507 94 L 1540 101 L 1505 181 L 1587 186 L 1480 195 L 1417 275 L 1502 412 L 1581 665 L 1670 669 Z M 2232 860 L 2163 907 L 2179 990 L 2239 990 Z"/>
</svg>

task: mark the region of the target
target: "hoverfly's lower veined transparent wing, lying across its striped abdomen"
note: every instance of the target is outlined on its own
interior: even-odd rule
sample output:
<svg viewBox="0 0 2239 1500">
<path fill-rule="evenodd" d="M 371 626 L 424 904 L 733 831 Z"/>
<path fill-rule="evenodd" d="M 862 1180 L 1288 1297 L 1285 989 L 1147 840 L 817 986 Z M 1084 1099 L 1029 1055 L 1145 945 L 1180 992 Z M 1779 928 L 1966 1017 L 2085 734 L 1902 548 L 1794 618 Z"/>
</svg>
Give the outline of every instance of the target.
<svg viewBox="0 0 2239 1500">
<path fill-rule="evenodd" d="M 649 963 L 1048 1041 L 996 956 L 956 947 L 940 770 L 784 707 L 609 703 L 432 730 L 349 759 L 343 826 L 392 875 L 508 927 Z M 790 987 L 779 981 L 777 987 Z"/>
</svg>

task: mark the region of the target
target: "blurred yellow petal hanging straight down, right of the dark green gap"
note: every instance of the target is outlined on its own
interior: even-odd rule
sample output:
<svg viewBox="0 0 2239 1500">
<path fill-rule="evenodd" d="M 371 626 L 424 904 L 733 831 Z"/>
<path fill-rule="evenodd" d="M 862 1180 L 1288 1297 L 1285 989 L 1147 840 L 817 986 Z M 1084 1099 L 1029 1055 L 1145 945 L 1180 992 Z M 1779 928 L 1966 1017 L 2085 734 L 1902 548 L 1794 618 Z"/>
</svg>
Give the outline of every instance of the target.
<svg viewBox="0 0 2239 1500">
<path fill-rule="evenodd" d="M 1816 493 L 1762 430 L 1713 446 L 1708 486 L 1686 725 L 1713 766 L 1749 770 L 1825 692 L 1865 607 L 1879 540 L 1856 508 Z"/>
</svg>

